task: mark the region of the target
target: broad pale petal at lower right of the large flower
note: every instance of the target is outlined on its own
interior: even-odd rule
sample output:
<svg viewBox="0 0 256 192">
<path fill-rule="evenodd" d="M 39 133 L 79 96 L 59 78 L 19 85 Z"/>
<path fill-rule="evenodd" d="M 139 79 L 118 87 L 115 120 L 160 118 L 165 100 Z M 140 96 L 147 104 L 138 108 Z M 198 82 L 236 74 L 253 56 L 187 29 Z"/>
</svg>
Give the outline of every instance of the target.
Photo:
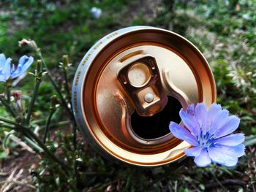
<svg viewBox="0 0 256 192">
<path fill-rule="evenodd" d="M 244 145 L 224 146 L 216 145 L 208 148 L 208 154 L 211 159 L 218 164 L 225 166 L 235 166 L 238 162 L 238 157 L 244 155 Z"/>
</svg>

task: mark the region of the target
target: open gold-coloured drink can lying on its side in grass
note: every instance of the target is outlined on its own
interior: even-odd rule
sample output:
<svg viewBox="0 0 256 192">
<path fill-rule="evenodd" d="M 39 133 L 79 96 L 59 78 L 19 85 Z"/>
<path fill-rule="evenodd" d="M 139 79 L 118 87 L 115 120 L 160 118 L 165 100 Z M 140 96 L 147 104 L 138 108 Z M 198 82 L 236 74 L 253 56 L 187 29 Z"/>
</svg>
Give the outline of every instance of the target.
<svg viewBox="0 0 256 192">
<path fill-rule="evenodd" d="M 202 53 L 184 37 L 134 26 L 100 39 L 78 66 L 72 104 L 82 134 L 100 154 L 137 166 L 180 160 L 187 142 L 170 121 L 187 104 L 216 100 Z"/>
</svg>

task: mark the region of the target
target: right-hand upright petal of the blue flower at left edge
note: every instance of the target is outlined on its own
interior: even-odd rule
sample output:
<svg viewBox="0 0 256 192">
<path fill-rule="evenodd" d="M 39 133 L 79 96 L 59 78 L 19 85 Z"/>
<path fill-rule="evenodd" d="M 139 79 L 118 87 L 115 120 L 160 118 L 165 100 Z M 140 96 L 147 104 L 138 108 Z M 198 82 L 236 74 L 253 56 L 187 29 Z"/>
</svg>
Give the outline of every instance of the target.
<svg viewBox="0 0 256 192">
<path fill-rule="evenodd" d="M 15 78 L 20 76 L 20 74 L 26 72 L 26 70 L 29 68 L 29 66 L 31 66 L 33 62 L 34 58 L 23 55 L 19 60 L 17 69 L 15 70 L 15 72 L 12 72 L 11 77 Z"/>
</svg>

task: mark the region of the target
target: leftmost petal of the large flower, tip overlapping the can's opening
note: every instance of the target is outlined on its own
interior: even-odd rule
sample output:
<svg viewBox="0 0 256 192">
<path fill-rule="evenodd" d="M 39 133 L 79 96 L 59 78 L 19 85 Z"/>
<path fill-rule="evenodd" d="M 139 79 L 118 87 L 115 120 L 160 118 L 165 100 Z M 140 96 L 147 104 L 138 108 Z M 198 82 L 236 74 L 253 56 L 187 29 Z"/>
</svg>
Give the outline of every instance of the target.
<svg viewBox="0 0 256 192">
<path fill-rule="evenodd" d="M 195 139 L 195 137 L 189 131 L 187 131 L 186 128 L 179 126 L 175 122 L 170 122 L 169 128 L 172 134 L 178 139 L 184 140 L 193 146 L 198 145 L 198 142 Z"/>
</svg>

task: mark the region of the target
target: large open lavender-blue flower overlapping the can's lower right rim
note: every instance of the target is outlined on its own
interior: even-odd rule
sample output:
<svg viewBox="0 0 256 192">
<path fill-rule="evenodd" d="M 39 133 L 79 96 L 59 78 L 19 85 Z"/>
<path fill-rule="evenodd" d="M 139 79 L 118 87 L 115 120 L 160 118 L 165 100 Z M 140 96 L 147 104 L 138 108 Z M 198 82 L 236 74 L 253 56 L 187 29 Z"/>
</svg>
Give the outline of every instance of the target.
<svg viewBox="0 0 256 192">
<path fill-rule="evenodd" d="M 212 161 L 235 166 L 238 157 L 244 155 L 244 134 L 231 134 L 238 128 L 240 120 L 235 115 L 229 116 L 220 104 L 211 104 L 208 110 L 203 103 L 189 104 L 186 111 L 180 110 L 179 115 L 187 128 L 170 122 L 170 131 L 194 146 L 184 152 L 195 157 L 197 166 L 207 166 Z"/>
</svg>

